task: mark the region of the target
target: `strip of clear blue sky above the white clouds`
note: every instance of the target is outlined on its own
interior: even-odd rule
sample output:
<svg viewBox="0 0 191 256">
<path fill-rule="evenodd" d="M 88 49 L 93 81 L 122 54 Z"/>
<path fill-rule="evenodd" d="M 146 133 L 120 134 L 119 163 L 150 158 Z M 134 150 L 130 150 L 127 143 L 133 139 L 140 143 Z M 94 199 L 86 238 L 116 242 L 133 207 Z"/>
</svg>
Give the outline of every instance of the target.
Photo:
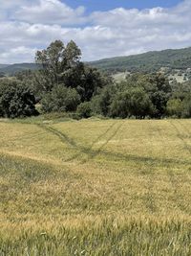
<svg viewBox="0 0 191 256">
<path fill-rule="evenodd" d="M 180 0 L 65 0 L 67 5 L 77 8 L 78 6 L 84 6 L 87 12 L 94 11 L 109 11 L 118 7 L 126 9 L 137 8 L 146 9 L 154 7 L 170 8 L 176 6 Z"/>
</svg>

